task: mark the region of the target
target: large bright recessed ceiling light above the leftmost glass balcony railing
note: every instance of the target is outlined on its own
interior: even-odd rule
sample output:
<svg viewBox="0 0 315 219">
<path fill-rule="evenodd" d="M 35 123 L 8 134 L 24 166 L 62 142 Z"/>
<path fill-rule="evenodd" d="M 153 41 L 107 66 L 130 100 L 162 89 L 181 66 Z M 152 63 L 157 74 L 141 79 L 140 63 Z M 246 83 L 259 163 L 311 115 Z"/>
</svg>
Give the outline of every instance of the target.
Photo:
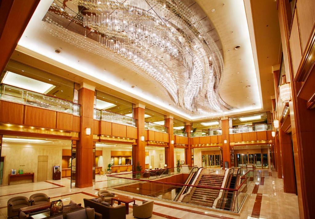
<svg viewBox="0 0 315 219">
<path fill-rule="evenodd" d="M 3 84 L 12 85 L 15 87 L 20 87 L 29 91 L 34 91 L 38 93 L 48 93 L 54 89 L 54 85 L 48 84 L 39 80 L 31 79 L 20 74 L 15 74 L 13 72 L 7 72 L 3 80 Z"/>
</svg>

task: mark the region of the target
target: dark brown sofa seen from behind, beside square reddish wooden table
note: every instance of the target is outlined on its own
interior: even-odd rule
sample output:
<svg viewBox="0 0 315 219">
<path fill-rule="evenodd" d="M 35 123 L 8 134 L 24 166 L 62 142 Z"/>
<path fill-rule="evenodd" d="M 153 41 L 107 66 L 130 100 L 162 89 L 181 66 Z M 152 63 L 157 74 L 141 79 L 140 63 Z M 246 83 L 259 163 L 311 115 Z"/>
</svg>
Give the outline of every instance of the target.
<svg viewBox="0 0 315 219">
<path fill-rule="evenodd" d="M 103 218 L 106 219 L 125 219 L 126 218 L 126 207 L 124 205 L 118 205 L 116 207 L 106 206 L 92 199 L 84 198 L 84 206 L 94 208 L 95 212 L 100 213 Z"/>
</svg>

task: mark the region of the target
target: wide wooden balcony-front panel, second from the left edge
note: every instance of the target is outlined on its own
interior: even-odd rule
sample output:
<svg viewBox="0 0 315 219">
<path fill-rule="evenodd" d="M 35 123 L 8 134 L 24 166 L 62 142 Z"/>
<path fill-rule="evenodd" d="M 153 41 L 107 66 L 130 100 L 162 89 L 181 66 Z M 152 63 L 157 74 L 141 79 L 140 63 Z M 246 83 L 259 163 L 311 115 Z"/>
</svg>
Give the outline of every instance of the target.
<svg viewBox="0 0 315 219">
<path fill-rule="evenodd" d="M 56 114 L 57 112 L 52 110 L 45 110 L 42 108 L 25 106 L 24 124 L 27 126 L 55 128 Z"/>
</svg>

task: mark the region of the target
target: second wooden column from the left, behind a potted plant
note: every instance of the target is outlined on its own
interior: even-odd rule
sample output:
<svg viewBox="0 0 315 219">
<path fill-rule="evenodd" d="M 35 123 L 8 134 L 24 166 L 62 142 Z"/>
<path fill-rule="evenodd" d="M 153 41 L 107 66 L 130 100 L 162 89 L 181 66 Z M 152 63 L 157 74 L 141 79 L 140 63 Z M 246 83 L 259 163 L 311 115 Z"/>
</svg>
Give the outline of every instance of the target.
<svg viewBox="0 0 315 219">
<path fill-rule="evenodd" d="M 133 116 L 136 119 L 137 125 L 137 145 L 133 145 L 132 147 L 132 172 L 137 171 L 137 164 L 140 162 L 140 166 L 142 171 L 146 168 L 145 162 L 145 146 L 146 141 L 141 141 L 141 136 L 145 136 L 145 129 L 144 129 L 144 109 L 145 106 L 142 104 L 136 104 L 133 109 Z M 145 136 L 147 138 L 147 136 Z"/>
</svg>

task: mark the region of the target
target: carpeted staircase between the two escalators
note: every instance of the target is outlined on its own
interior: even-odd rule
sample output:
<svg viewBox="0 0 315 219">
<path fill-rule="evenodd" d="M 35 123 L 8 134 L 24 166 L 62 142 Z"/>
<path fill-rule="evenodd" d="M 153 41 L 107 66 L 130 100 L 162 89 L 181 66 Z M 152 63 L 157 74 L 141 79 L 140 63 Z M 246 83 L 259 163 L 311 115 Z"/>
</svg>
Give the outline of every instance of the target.
<svg viewBox="0 0 315 219">
<path fill-rule="evenodd" d="M 221 188 L 224 175 L 203 174 L 198 186 L 211 186 Z M 190 204 L 197 204 L 205 207 L 212 207 L 214 200 L 218 197 L 219 189 L 196 188 L 189 201 Z"/>
</svg>

